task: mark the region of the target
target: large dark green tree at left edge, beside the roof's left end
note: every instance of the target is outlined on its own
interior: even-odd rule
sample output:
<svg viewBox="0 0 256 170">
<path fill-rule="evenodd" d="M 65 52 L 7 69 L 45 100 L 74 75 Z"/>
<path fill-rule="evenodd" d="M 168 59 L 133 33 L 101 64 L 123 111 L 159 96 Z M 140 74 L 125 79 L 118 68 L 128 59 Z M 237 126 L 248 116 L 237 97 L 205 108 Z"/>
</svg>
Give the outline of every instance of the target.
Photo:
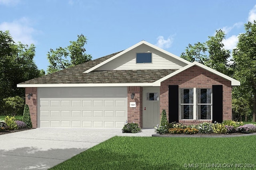
<svg viewBox="0 0 256 170">
<path fill-rule="evenodd" d="M 25 89 L 17 88 L 17 84 L 42 76 L 42 70 L 38 70 L 33 61 L 34 56 L 33 44 L 15 43 L 9 31 L 0 31 L 0 114 L 4 98 L 24 98 Z"/>
</svg>

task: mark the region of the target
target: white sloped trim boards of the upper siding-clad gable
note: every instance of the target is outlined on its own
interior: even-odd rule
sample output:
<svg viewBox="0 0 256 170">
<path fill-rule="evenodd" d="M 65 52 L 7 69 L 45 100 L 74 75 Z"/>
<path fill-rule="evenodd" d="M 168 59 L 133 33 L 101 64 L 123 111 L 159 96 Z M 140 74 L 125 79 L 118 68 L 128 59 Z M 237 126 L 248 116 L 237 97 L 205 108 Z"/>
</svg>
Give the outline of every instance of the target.
<svg viewBox="0 0 256 170">
<path fill-rule="evenodd" d="M 124 55 L 124 54 L 126 54 L 126 53 L 128 53 L 128 52 L 130 52 L 130 51 L 132 51 L 132 50 L 134 50 L 135 48 L 137 48 L 137 47 L 139 47 L 139 46 L 143 46 L 143 45 L 146 46 L 146 47 L 148 47 L 148 49 L 151 49 L 152 51 L 158 51 L 158 52 L 163 53 L 164 55 L 166 55 L 166 56 L 168 56 L 168 57 L 170 57 L 170 58 L 172 58 L 172 59 L 178 61 L 179 63 L 182 63 L 182 66 L 185 66 L 185 65 L 187 65 L 187 64 L 190 64 L 190 62 L 188 62 L 188 61 L 186 61 L 186 60 L 184 60 L 184 59 L 182 59 L 182 58 L 180 58 L 180 57 L 178 57 L 178 56 L 176 56 L 176 55 L 174 55 L 174 54 L 172 54 L 172 53 L 169 53 L 168 51 L 165 51 L 165 50 L 163 50 L 163 49 L 160 49 L 159 47 L 156 47 L 155 45 L 152 45 L 152 44 L 150 44 L 150 43 L 148 43 L 148 42 L 146 42 L 146 41 L 143 40 L 143 41 L 140 41 L 139 43 L 133 45 L 132 47 L 130 47 L 130 48 L 128 48 L 128 49 L 122 51 L 121 53 L 118 53 L 117 55 L 111 57 L 110 59 L 107 59 L 106 61 L 104 61 L 104 62 L 102 62 L 102 63 L 100 63 L 100 64 L 98 64 L 98 65 L 96 65 L 96 66 L 94 66 L 94 67 L 92 67 L 92 68 L 90 68 L 90 69 L 88 69 L 88 70 L 86 70 L 84 73 L 88 73 L 88 72 L 91 72 L 91 71 L 93 71 L 93 70 L 99 70 L 99 67 L 103 66 L 104 64 L 107 64 L 107 63 L 113 61 L 114 59 L 117 59 L 118 57 L 120 57 L 120 56 L 122 56 L 122 55 Z M 142 66 L 142 65 L 140 65 L 140 66 Z M 181 67 L 182 67 L 182 66 L 181 66 Z M 146 67 L 148 67 L 148 66 L 146 66 Z M 181 68 L 181 67 L 180 67 L 180 68 Z M 120 70 L 121 70 L 121 69 L 122 69 L 122 68 L 120 68 Z M 136 69 L 136 68 L 135 68 L 135 69 Z M 137 68 L 137 69 L 139 69 L 139 68 Z M 152 68 L 152 69 L 154 69 L 154 68 Z M 156 68 L 156 69 L 158 69 L 158 68 Z M 119 69 L 117 69 L 117 70 L 119 70 Z M 123 69 L 122 69 L 122 70 L 123 70 Z M 127 69 L 126 69 L 126 70 L 127 70 Z"/>
</svg>

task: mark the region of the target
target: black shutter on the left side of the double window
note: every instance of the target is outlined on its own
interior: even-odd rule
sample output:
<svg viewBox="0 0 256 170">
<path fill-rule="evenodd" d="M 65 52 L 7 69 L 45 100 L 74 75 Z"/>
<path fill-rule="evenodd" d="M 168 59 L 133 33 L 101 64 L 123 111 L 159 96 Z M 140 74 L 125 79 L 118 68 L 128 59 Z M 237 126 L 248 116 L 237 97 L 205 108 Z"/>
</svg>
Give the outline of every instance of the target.
<svg viewBox="0 0 256 170">
<path fill-rule="evenodd" d="M 179 122 L 179 86 L 169 85 L 169 123 Z"/>
</svg>

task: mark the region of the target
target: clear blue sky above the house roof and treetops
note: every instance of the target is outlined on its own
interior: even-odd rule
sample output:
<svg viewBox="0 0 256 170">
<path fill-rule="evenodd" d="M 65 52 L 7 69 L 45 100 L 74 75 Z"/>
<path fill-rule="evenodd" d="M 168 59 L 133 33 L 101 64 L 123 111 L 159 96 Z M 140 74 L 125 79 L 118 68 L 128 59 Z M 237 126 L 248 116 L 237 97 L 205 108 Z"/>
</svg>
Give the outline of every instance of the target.
<svg viewBox="0 0 256 170">
<path fill-rule="evenodd" d="M 35 63 L 47 69 L 50 49 L 83 34 L 93 59 L 141 40 L 180 56 L 188 44 L 205 42 L 216 29 L 233 49 L 244 23 L 256 20 L 254 0 L 0 0 L 0 30 L 36 46 Z"/>
</svg>

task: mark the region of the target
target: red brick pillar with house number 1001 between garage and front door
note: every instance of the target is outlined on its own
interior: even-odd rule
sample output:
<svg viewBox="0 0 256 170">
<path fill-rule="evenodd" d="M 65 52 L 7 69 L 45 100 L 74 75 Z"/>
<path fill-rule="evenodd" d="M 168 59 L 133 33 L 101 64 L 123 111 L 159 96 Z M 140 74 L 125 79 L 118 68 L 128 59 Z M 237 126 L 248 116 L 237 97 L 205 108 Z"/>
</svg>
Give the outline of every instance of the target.
<svg viewBox="0 0 256 170">
<path fill-rule="evenodd" d="M 131 99 L 131 94 L 134 93 L 134 99 Z M 138 123 L 142 127 L 142 87 L 128 87 L 128 122 Z M 136 102 L 136 107 L 130 107 L 130 102 Z"/>
</svg>

